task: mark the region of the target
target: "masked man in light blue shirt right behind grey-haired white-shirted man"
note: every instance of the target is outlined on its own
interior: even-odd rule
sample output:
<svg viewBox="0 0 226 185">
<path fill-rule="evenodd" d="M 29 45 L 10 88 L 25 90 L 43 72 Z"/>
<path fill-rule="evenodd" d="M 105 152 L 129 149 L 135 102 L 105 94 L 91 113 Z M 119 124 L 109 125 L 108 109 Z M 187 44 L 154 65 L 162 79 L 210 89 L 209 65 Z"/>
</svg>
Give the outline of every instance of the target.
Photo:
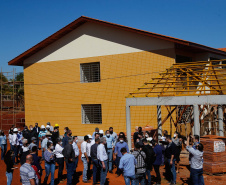
<svg viewBox="0 0 226 185">
<path fill-rule="evenodd" d="M 113 155 L 115 139 L 113 138 L 113 136 L 111 136 L 109 130 L 106 130 L 104 137 L 106 138 L 106 142 L 107 142 L 108 170 L 109 170 L 109 173 L 112 173 L 112 155 Z"/>
</svg>

